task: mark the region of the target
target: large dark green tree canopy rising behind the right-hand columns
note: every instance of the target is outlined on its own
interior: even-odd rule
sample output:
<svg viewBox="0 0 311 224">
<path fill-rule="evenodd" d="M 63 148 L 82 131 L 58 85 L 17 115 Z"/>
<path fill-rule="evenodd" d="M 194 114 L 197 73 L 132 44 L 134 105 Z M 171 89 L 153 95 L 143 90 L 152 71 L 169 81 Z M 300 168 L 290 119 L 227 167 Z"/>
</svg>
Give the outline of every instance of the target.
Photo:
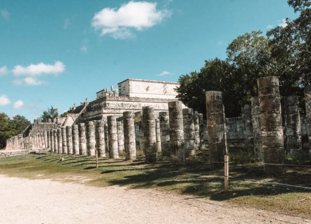
<svg viewBox="0 0 311 224">
<path fill-rule="evenodd" d="M 278 76 L 281 96 L 297 95 L 303 103 L 304 85 L 311 83 L 311 1 L 289 0 L 300 16 L 286 26 L 277 26 L 263 36 L 261 30 L 235 38 L 226 59 L 205 61 L 199 72 L 181 75 L 177 98 L 206 113 L 205 91 L 222 91 L 226 117 L 236 117 L 241 107 L 258 95 L 257 79 Z"/>
</svg>

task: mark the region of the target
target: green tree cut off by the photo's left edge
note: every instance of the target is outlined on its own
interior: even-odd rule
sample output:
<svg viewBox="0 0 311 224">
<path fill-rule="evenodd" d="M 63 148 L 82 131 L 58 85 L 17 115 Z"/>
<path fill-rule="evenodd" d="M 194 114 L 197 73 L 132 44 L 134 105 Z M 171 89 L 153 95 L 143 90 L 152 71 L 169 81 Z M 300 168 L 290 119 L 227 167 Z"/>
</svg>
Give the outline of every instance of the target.
<svg viewBox="0 0 311 224">
<path fill-rule="evenodd" d="M 6 145 L 7 139 L 15 135 L 15 122 L 5 113 L 0 113 L 0 149 Z"/>
</svg>

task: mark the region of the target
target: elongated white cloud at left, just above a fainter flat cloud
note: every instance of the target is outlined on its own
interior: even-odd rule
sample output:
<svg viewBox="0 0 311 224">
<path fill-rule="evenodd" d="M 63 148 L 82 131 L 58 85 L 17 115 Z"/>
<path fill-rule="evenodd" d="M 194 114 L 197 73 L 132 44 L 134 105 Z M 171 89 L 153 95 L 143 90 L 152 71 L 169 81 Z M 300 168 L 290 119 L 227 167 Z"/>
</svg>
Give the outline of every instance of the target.
<svg viewBox="0 0 311 224">
<path fill-rule="evenodd" d="M 13 74 L 18 75 L 41 75 L 41 74 L 59 74 L 65 71 L 63 62 L 55 62 L 54 65 L 39 63 L 37 65 L 31 64 L 27 67 L 21 65 L 14 66 Z"/>
</svg>

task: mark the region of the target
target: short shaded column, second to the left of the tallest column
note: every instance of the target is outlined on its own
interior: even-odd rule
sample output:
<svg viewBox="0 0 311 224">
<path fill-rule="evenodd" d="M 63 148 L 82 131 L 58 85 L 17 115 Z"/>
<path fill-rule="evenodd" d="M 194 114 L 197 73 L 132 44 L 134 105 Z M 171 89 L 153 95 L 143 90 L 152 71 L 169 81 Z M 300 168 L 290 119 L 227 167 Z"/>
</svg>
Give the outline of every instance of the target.
<svg viewBox="0 0 311 224">
<path fill-rule="evenodd" d="M 244 116 L 245 116 L 245 149 L 249 153 L 254 152 L 254 138 L 253 138 L 253 123 L 252 123 L 252 113 L 251 113 L 251 105 L 244 105 Z"/>
</svg>

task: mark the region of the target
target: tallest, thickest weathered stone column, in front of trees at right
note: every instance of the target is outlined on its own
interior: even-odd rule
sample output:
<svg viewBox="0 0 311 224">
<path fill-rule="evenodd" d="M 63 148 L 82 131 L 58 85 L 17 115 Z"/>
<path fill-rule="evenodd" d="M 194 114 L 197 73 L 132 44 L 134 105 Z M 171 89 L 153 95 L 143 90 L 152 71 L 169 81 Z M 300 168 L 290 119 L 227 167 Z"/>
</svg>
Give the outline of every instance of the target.
<svg viewBox="0 0 311 224">
<path fill-rule="evenodd" d="M 284 164 L 284 141 L 281 116 L 279 79 L 268 76 L 257 80 L 259 93 L 260 124 L 264 163 Z M 265 164 L 265 172 L 272 175 L 285 174 L 281 165 Z"/>
</svg>

